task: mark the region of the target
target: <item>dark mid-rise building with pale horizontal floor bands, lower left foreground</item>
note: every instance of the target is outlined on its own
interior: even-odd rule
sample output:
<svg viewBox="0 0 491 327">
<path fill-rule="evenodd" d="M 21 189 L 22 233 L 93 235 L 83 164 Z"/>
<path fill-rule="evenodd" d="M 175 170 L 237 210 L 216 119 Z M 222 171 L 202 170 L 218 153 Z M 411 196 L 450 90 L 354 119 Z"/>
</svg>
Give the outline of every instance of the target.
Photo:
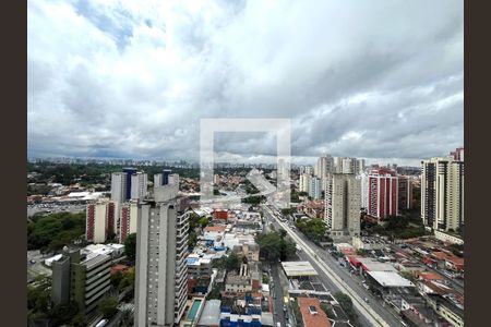
<svg viewBox="0 0 491 327">
<path fill-rule="evenodd" d="M 52 263 L 52 301 L 73 301 L 81 312 L 91 314 L 110 289 L 110 266 L 109 255 L 63 249 L 61 258 Z"/>
</svg>

